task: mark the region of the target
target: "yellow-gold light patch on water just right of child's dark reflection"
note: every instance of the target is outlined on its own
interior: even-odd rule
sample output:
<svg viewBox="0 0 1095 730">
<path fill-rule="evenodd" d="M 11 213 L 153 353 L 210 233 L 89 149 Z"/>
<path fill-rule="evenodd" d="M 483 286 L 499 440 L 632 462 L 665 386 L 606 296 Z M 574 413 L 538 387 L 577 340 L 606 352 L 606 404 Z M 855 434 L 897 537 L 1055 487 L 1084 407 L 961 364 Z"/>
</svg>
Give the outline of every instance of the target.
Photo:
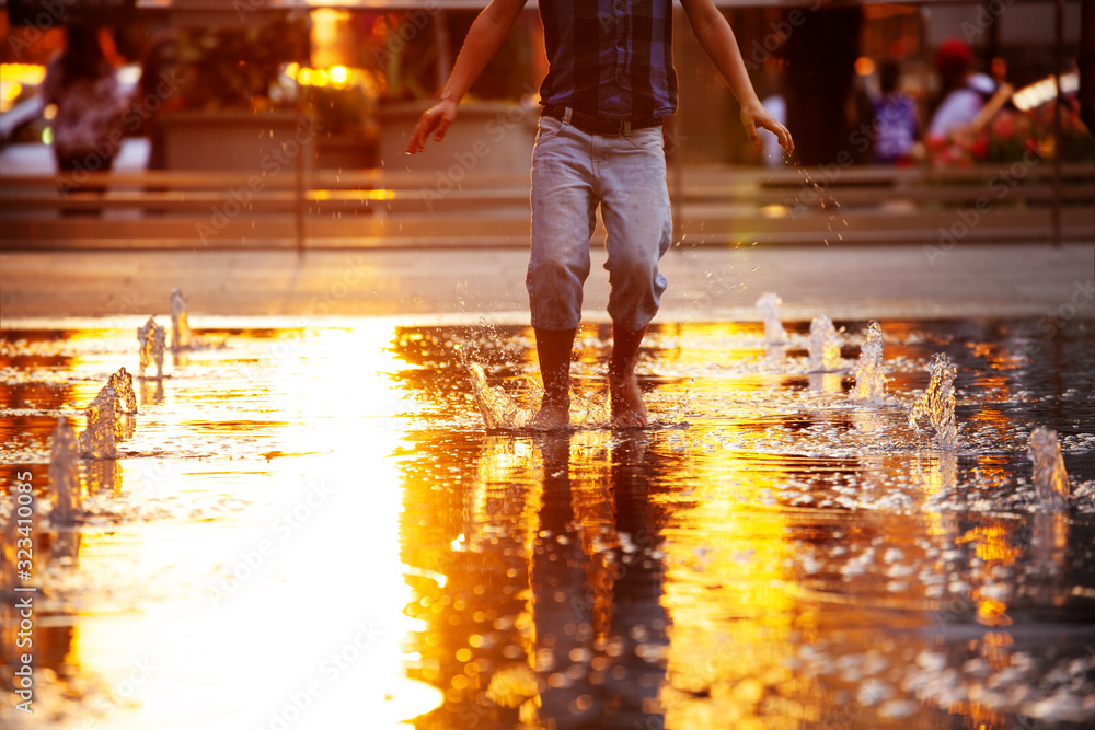
<svg viewBox="0 0 1095 730">
<path fill-rule="evenodd" d="M 667 727 L 738 727 L 762 715 L 764 686 L 793 679 L 786 652 L 802 616 L 785 582 L 794 552 L 786 515 L 741 510 L 781 475 L 729 455 L 684 468 L 696 486 L 694 507 L 666 530 L 664 602 L 672 629 L 660 700 Z"/>
</svg>

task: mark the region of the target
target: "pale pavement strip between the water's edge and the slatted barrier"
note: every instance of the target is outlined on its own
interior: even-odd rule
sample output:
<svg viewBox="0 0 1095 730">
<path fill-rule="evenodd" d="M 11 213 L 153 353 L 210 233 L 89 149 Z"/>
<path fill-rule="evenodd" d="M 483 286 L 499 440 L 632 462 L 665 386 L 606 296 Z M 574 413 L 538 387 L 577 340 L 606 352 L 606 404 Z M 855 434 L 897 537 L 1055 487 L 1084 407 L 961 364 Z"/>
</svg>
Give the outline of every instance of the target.
<svg viewBox="0 0 1095 730">
<path fill-rule="evenodd" d="M 844 320 L 1095 315 L 1095 245 L 1054 248 L 1048 241 L 1047 235 L 995 245 L 675 246 L 662 259 L 669 288 L 658 318 L 756 320 L 753 304 L 765 291 L 781 294 L 786 318 L 806 322 L 818 314 Z M 603 256 L 603 248 L 593 248 L 587 322 L 606 321 Z M 299 255 L 200 245 L 3 251 L 0 326 L 25 317 L 164 315 L 172 287 L 182 288 L 196 314 L 286 316 L 292 326 L 332 315 L 431 324 L 486 316 L 523 324 L 527 266 L 526 246 Z"/>
</svg>

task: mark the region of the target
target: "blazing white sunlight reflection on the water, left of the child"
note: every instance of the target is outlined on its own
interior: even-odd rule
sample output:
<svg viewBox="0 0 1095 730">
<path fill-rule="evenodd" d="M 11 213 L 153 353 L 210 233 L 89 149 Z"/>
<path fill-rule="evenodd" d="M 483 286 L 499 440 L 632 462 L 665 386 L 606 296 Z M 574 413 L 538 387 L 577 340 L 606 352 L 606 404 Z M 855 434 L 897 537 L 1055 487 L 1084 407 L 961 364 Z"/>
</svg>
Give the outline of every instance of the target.
<svg viewBox="0 0 1095 730">
<path fill-rule="evenodd" d="M 124 705 L 101 708 L 104 727 L 266 728 L 300 716 L 307 727 L 368 718 L 383 728 L 440 699 L 403 671 L 403 638 L 418 622 L 403 614 L 391 456 L 408 404 L 391 383 L 392 328 L 290 334 L 263 372 L 278 384 L 267 405 L 283 424 L 280 452 L 316 455 L 270 459 L 258 482 L 242 468 L 215 477 L 215 488 L 256 502 L 232 530 L 211 519 L 84 535 L 85 590 L 142 596 L 78 612 L 68 663 L 114 696 L 148 668 Z M 185 387 L 177 372 L 168 390 Z M 170 424 L 162 433 L 176 436 Z M 170 465 L 159 478 L 185 490 L 209 475 Z"/>
</svg>

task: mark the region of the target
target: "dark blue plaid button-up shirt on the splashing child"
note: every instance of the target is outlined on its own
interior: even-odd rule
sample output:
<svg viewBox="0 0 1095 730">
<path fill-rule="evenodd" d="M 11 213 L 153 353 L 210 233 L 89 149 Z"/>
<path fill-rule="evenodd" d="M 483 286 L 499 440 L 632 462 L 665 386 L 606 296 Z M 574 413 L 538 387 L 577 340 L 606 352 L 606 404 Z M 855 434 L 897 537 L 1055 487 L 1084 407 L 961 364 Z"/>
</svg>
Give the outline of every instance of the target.
<svg viewBox="0 0 1095 730">
<path fill-rule="evenodd" d="M 606 119 L 677 108 L 672 0 L 540 0 L 549 70 L 541 104 Z"/>
</svg>

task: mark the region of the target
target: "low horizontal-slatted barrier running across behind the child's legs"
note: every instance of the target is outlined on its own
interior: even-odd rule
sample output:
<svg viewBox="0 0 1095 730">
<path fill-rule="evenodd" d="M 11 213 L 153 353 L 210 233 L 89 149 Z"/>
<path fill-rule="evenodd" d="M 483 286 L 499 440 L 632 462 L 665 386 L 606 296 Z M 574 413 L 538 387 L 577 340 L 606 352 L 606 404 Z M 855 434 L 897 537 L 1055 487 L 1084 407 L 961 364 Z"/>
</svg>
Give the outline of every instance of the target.
<svg viewBox="0 0 1095 730">
<path fill-rule="evenodd" d="M 671 172 L 678 240 L 749 243 L 1095 241 L 1095 164 L 1031 161 Z M 4 176 L 0 247 L 399 247 L 528 244 L 527 175 L 314 171 Z M 99 189 L 95 189 L 99 188 Z M 89 215 L 93 213 L 93 215 Z M 595 240 L 599 236 L 595 236 Z"/>
</svg>

